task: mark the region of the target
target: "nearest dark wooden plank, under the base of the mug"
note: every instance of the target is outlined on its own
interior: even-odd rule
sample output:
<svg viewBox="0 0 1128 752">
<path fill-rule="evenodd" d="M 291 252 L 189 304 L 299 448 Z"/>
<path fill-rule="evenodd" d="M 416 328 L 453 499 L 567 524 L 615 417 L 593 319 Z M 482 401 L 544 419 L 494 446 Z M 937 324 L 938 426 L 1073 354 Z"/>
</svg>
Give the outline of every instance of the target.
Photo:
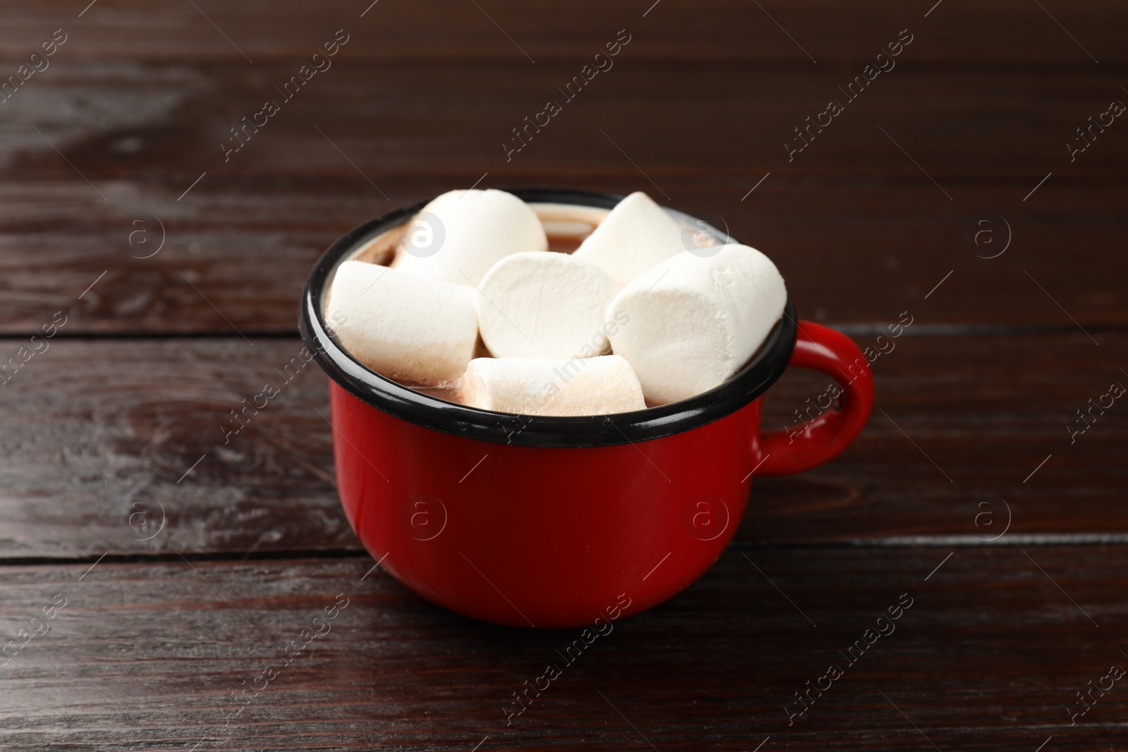
<svg viewBox="0 0 1128 752">
<path fill-rule="evenodd" d="M 1085 550 L 730 549 L 571 664 L 558 651 L 580 630 L 470 621 L 381 570 L 361 581 L 367 557 L 9 566 L 6 632 L 65 607 L 5 667 L 0 736 L 29 752 L 1112 749 L 1128 693 L 1094 690 L 1073 726 L 1069 708 L 1128 661 L 1128 549 Z M 329 631 L 285 663 L 338 594 Z M 851 664 L 876 626 L 892 631 Z M 512 692 L 549 663 L 562 674 L 506 726 Z M 826 687 L 831 664 L 844 675 L 788 725 L 794 693 Z"/>
</svg>

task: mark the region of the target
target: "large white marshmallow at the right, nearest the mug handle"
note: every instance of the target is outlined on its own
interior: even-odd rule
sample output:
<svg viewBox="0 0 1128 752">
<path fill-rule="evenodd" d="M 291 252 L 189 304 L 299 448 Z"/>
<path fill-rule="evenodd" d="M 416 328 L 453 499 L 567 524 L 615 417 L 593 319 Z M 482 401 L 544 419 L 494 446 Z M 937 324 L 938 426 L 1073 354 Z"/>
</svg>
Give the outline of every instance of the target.
<svg viewBox="0 0 1128 752">
<path fill-rule="evenodd" d="M 685 250 L 616 295 L 611 350 L 631 361 L 646 399 L 673 402 L 743 368 L 786 302 L 779 271 L 755 248 L 726 245 L 706 258 Z M 624 316 L 627 324 L 611 327 Z"/>
</svg>

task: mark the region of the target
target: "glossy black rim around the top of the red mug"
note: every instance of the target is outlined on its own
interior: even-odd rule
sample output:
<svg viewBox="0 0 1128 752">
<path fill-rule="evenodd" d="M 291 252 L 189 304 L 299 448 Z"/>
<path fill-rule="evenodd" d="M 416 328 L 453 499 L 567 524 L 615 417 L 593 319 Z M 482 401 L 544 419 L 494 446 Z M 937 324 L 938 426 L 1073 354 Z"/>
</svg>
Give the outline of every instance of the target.
<svg viewBox="0 0 1128 752">
<path fill-rule="evenodd" d="M 528 203 L 573 204 L 611 209 L 623 196 L 576 188 L 501 188 Z M 381 214 L 350 230 L 314 266 L 298 307 L 298 328 L 310 354 L 331 379 L 378 410 L 442 433 L 517 446 L 614 446 L 662 439 L 719 421 L 763 395 L 786 370 L 795 347 L 795 310 L 788 295 L 784 315 L 758 353 L 719 387 L 688 399 L 633 413 L 541 416 L 495 413 L 431 397 L 399 384 L 363 365 L 329 334 L 324 318 L 325 293 L 336 267 L 369 239 L 403 224 L 428 201 Z M 687 216 L 695 222 L 697 218 Z M 721 239 L 732 235 L 705 223 Z"/>
</svg>

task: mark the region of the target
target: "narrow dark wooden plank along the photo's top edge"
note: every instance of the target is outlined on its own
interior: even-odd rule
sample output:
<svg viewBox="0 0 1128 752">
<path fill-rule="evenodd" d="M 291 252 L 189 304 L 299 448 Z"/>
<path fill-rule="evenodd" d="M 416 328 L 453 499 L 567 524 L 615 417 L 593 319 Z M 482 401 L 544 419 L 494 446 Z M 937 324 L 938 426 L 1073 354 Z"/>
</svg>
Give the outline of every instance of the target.
<svg viewBox="0 0 1128 752">
<path fill-rule="evenodd" d="M 457 0 L 380 5 L 331 0 L 312 6 L 289 3 L 284 10 L 267 0 L 237 6 L 205 0 L 197 8 L 191 3 L 153 7 L 142 0 L 97 0 L 97 5 L 76 0 L 65 11 L 21 8 L 0 30 L 0 51 L 24 57 L 37 48 L 41 37 L 50 38 L 51 30 L 63 26 L 71 35 L 63 50 L 86 59 L 249 67 L 248 59 L 261 64 L 307 51 L 311 54 L 324 38 L 344 27 L 359 39 L 361 50 L 354 54 L 371 60 L 495 60 L 517 67 L 531 65 L 529 57 L 540 64 L 593 54 L 606 41 L 601 30 L 614 34 L 626 26 L 646 37 L 649 57 L 810 65 L 811 56 L 825 63 L 858 57 L 871 48 L 876 54 L 889 41 L 889 30 L 896 34 L 908 26 L 931 38 L 932 59 L 1094 65 L 1089 50 L 1103 64 L 1123 60 L 1117 30 L 1128 14 L 1111 0 L 1048 6 L 1052 16 L 1017 0 L 944 3 L 935 9 L 933 2 L 917 5 L 882 0 L 846 7 L 820 0 L 757 8 L 738 0 L 691 6 L 587 0 L 550 3 L 544 12 L 530 12 L 512 0 L 488 0 L 478 8 Z"/>
</svg>

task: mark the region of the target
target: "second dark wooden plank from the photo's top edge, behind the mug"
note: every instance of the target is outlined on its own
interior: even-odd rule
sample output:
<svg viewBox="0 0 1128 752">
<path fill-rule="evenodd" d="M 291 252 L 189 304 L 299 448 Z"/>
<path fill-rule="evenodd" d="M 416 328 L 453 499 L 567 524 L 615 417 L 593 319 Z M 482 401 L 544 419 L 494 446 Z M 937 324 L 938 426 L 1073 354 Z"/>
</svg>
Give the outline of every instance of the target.
<svg viewBox="0 0 1128 752">
<path fill-rule="evenodd" d="M 1057 174 L 1047 186 L 1051 189 L 1093 179 L 1120 188 L 1114 178 L 1125 169 L 1128 147 L 1111 115 L 1105 116 L 1111 125 L 1094 126 L 1086 136 L 1093 143 L 1073 161 L 1066 148 L 1068 142 L 1084 147 L 1076 129 L 1089 126 L 1087 118 L 1101 115 L 1113 99 L 1126 98 L 1114 72 L 931 65 L 913 60 L 910 46 L 893 70 L 861 94 L 847 94 L 843 89 L 863 61 L 826 70 L 708 60 L 672 65 L 632 59 L 631 52 L 631 45 L 624 47 L 614 68 L 569 91 L 565 83 L 579 74 L 582 60 L 529 70 L 434 63 L 389 73 L 341 52 L 331 69 L 296 92 L 282 88 L 300 62 L 254 70 L 58 63 L 5 103 L 10 120 L 0 158 L 9 179 L 73 182 L 94 202 L 105 196 L 133 206 L 176 203 L 202 171 L 209 178 L 194 197 L 285 176 L 296 185 L 301 178 L 334 177 L 384 201 L 360 168 L 400 201 L 396 186 L 389 194 L 387 184 L 424 176 L 473 183 L 486 170 L 494 185 L 607 176 L 645 180 L 632 160 L 660 186 L 681 176 L 706 184 L 739 178 L 733 185 L 740 188 L 738 198 L 752 185 L 749 178 L 767 170 L 776 177 L 832 175 L 857 180 L 858 187 L 875 178 L 920 183 L 931 188 L 927 206 L 945 196 L 922 167 L 960 202 L 953 207 L 971 202 L 968 192 L 988 182 L 1013 184 L 1017 195 L 996 195 L 990 203 L 1017 209 L 1048 170 Z M 1001 90 L 1007 96 L 999 97 Z M 523 118 L 536 120 L 549 100 L 561 112 L 540 117 L 539 129 L 528 125 Z M 830 100 L 843 112 L 823 117 L 822 127 L 809 125 L 805 118 L 813 123 Z M 266 101 L 279 112 L 258 116 Z M 258 126 L 246 125 L 244 117 Z M 238 138 L 232 127 L 239 129 Z M 521 129 L 520 140 L 514 129 Z M 803 129 L 802 139 L 796 129 Z M 149 185 L 133 182 L 164 191 L 150 195 Z M 663 189 L 677 197 L 677 191 Z M 887 201 L 896 197 L 887 191 Z M 1058 203 L 1021 207 L 1052 205 Z M 166 211 L 190 206 L 162 205 Z"/>
</svg>

